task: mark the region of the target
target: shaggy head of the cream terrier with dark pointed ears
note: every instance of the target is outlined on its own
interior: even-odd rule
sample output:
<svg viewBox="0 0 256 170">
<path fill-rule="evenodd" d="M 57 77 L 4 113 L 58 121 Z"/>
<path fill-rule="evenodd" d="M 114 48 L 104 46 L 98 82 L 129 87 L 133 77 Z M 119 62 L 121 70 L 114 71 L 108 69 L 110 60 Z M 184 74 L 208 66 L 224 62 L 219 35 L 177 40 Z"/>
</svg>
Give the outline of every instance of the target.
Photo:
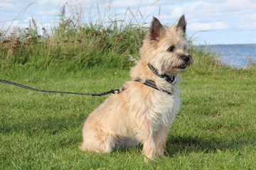
<svg viewBox="0 0 256 170">
<path fill-rule="evenodd" d="M 160 74 L 176 74 L 193 63 L 187 49 L 186 19 L 183 15 L 171 28 L 164 28 L 157 18 L 153 18 L 141 53 L 144 60 L 154 65 Z"/>
</svg>

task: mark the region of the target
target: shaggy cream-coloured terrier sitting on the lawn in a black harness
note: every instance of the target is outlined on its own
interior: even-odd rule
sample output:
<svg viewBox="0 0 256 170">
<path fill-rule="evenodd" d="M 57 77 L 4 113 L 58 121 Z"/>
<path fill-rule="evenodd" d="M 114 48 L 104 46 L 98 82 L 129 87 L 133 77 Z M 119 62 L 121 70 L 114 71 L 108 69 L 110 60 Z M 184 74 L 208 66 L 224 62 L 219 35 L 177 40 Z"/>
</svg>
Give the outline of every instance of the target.
<svg viewBox="0 0 256 170">
<path fill-rule="evenodd" d="M 180 74 L 193 63 L 187 48 L 184 15 L 171 28 L 153 18 L 141 59 L 131 69 L 132 80 L 90 113 L 80 149 L 102 153 L 142 144 L 145 162 L 164 157 L 166 138 L 181 106 Z"/>
</svg>

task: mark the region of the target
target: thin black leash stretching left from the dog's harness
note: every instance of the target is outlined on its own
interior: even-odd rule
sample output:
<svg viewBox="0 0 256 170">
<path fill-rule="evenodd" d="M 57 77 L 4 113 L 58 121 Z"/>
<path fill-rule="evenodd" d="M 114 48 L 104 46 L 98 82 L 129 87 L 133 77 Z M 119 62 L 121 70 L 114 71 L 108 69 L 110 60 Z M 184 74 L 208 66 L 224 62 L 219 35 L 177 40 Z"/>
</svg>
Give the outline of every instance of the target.
<svg viewBox="0 0 256 170">
<path fill-rule="evenodd" d="M 25 88 L 25 89 L 30 89 L 30 90 L 33 90 L 33 91 L 58 93 L 58 94 L 80 94 L 80 95 L 87 95 L 87 96 L 103 96 L 103 95 L 106 95 L 106 94 L 119 94 L 119 93 L 121 93 L 121 91 L 124 91 L 124 88 L 122 88 L 122 89 L 115 89 L 115 90 L 112 89 L 112 90 L 106 91 L 102 94 L 84 94 L 84 93 L 74 93 L 74 92 L 67 92 L 67 91 L 46 91 L 46 90 L 34 89 L 32 87 L 29 87 L 29 86 L 24 86 L 22 84 L 16 84 L 14 82 L 2 80 L 2 79 L 0 79 L 0 82 L 5 83 L 5 84 L 11 84 L 11 85 L 14 85 L 14 86 L 19 86 L 19 87 L 22 87 L 22 88 Z"/>
</svg>

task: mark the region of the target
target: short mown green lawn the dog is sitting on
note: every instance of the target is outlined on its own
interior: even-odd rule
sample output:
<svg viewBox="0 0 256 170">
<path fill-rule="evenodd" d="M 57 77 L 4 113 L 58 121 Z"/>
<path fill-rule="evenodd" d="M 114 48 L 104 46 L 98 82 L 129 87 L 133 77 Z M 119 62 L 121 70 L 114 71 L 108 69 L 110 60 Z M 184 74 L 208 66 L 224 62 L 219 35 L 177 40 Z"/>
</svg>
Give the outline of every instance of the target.
<svg viewBox="0 0 256 170">
<path fill-rule="evenodd" d="M 129 71 L 21 69 L 0 77 L 38 89 L 98 93 L 121 87 Z M 255 77 L 254 71 L 232 69 L 183 74 L 183 104 L 166 158 L 148 164 L 142 147 L 110 154 L 78 149 L 83 122 L 107 96 L 0 84 L 0 169 L 256 169 Z"/>
</svg>

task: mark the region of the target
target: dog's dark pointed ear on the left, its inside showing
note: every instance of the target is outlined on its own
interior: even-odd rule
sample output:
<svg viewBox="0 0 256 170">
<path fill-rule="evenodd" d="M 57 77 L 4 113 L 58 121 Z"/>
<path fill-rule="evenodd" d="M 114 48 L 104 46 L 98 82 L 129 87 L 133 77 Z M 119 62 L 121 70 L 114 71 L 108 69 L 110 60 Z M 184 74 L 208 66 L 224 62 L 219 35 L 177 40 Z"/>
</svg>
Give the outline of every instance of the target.
<svg viewBox="0 0 256 170">
<path fill-rule="evenodd" d="M 163 30 L 163 26 L 161 25 L 160 21 L 153 17 L 151 22 L 151 26 L 149 28 L 149 36 L 151 40 L 159 40 L 161 30 Z"/>
</svg>

